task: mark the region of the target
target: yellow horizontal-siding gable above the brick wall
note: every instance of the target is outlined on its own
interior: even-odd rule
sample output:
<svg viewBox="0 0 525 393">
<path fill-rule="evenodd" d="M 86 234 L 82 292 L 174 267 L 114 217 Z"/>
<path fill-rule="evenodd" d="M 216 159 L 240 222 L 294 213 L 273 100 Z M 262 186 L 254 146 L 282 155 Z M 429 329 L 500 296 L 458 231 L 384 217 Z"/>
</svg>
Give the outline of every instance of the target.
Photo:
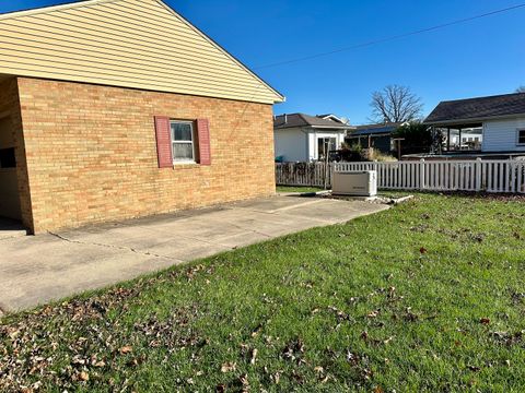
<svg viewBox="0 0 525 393">
<path fill-rule="evenodd" d="M 0 78 L 284 100 L 161 0 L 88 0 L 3 14 L 0 40 Z"/>
</svg>

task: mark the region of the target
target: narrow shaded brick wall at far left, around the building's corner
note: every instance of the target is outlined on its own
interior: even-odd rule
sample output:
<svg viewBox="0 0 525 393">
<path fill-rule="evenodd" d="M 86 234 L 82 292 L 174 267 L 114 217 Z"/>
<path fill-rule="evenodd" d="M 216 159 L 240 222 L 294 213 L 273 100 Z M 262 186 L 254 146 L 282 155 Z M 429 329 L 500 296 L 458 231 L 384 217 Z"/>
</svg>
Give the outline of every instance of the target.
<svg viewBox="0 0 525 393">
<path fill-rule="evenodd" d="M 19 91 L 16 79 L 8 79 L 0 82 L 0 118 L 5 119 L 5 130 L 10 132 L 4 140 L 14 142 L 14 154 L 16 158 L 16 181 L 20 195 L 20 214 L 24 225 L 32 229 L 33 217 L 31 211 L 30 187 L 27 181 L 27 167 L 25 162 L 25 146 L 22 131 L 22 119 L 20 114 Z M 9 143 L 10 144 L 10 143 Z M 1 184 L 0 184 L 1 187 Z M 13 213 L 13 216 L 18 213 Z"/>
</svg>

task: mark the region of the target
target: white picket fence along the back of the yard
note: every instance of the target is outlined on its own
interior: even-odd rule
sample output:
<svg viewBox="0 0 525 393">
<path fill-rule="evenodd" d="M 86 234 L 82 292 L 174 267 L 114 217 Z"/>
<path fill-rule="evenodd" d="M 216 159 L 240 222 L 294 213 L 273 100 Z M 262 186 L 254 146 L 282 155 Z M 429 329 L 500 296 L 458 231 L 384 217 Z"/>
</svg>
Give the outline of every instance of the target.
<svg viewBox="0 0 525 393">
<path fill-rule="evenodd" d="M 287 165 L 285 176 L 279 166 Z M 323 186 L 324 164 L 315 165 L 315 176 L 299 176 L 296 164 L 277 164 L 277 183 L 287 186 Z M 429 191 L 487 191 L 525 193 L 523 160 L 420 160 L 398 163 L 337 163 L 330 165 L 330 178 L 336 172 L 376 170 L 380 189 Z M 280 176 L 281 175 L 281 176 Z M 310 172 L 308 172 L 310 175 Z"/>
</svg>

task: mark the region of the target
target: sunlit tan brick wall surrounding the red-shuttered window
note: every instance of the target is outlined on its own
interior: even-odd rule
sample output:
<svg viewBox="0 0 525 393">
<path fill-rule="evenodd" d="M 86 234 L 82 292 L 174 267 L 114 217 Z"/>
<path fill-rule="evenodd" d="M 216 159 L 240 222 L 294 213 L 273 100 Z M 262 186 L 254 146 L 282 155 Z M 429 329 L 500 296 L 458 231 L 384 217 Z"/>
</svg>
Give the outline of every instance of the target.
<svg viewBox="0 0 525 393">
<path fill-rule="evenodd" d="M 270 105 L 19 79 L 35 233 L 275 192 Z M 159 169 L 154 116 L 210 121 L 211 166 Z"/>
</svg>

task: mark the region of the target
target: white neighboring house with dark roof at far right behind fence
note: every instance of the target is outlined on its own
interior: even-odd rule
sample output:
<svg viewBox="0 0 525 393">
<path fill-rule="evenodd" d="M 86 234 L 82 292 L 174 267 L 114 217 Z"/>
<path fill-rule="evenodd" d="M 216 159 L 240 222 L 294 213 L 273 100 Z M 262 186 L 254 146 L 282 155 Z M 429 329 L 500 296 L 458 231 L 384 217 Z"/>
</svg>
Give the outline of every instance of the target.
<svg viewBox="0 0 525 393">
<path fill-rule="evenodd" d="M 445 130 L 450 151 L 525 153 L 525 93 L 443 102 L 424 122 Z"/>
</svg>

